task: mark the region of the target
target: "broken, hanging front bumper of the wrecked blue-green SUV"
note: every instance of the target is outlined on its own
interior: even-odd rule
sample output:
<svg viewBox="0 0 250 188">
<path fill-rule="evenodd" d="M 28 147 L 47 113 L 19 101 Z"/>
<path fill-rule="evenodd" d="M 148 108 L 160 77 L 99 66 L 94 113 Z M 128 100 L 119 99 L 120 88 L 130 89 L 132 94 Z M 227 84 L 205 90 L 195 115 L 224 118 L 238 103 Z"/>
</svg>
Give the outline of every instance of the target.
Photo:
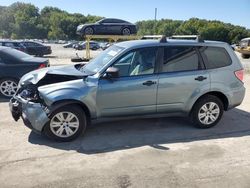
<svg viewBox="0 0 250 188">
<path fill-rule="evenodd" d="M 40 103 L 13 97 L 9 103 L 12 117 L 17 121 L 20 117 L 30 129 L 41 132 L 49 118 Z"/>
</svg>

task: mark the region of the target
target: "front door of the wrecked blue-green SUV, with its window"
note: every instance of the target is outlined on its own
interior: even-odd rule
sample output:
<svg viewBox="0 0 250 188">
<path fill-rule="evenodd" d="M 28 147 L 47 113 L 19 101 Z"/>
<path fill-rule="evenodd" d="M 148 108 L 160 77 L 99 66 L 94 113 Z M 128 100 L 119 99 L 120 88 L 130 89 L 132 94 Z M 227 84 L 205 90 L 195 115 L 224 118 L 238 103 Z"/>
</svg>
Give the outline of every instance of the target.
<svg viewBox="0 0 250 188">
<path fill-rule="evenodd" d="M 119 78 L 100 78 L 97 91 L 98 116 L 125 116 L 156 112 L 158 75 L 157 48 L 130 51 L 112 66 Z"/>
</svg>

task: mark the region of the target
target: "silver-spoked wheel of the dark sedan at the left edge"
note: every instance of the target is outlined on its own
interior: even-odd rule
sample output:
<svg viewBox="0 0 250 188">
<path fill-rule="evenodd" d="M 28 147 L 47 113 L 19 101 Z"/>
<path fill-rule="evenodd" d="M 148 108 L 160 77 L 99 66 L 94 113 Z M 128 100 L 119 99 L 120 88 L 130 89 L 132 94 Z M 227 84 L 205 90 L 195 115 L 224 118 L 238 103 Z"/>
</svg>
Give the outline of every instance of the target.
<svg viewBox="0 0 250 188">
<path fill-rule="evenodd" d="M 13 78 L 3 78 L 0 80 L 0 95 L 11 98 L 17 91 L 18 80 Z"/>
</svg>

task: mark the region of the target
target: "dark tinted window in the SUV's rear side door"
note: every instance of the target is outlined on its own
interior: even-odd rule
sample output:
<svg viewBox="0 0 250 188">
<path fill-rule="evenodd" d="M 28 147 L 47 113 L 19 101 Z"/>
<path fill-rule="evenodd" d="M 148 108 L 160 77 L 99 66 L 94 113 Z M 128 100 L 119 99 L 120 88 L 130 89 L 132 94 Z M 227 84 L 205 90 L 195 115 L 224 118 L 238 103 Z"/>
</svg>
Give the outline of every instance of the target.
<svg viewBox="0 0 250 188">
<path fill-rule="evenodd" d="M 164 48 L 164 60 L 161 72 L 179 72 L 198 70 L 199 56 L 192 46 L 168 46 Z"/>
</svg>

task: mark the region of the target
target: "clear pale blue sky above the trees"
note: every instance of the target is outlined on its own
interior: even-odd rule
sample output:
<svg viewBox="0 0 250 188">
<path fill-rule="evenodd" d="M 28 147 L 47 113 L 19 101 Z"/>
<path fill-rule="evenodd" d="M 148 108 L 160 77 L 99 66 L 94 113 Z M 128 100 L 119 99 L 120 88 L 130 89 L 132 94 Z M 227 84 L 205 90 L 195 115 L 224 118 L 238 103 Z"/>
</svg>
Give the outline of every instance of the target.
<svg viewBox="0 0 250 188">
<path fill-rule="evenodd" d="M 132 23 L 154 19 L 188 20 L 197 17 L 220 20 L 250 29 L 250 0 L 19 0 L 42 9 L 54 6 L 70 13 L 120 18 Z M 16 0 L 0 0 L 8 6 Z"/>
</svg>

